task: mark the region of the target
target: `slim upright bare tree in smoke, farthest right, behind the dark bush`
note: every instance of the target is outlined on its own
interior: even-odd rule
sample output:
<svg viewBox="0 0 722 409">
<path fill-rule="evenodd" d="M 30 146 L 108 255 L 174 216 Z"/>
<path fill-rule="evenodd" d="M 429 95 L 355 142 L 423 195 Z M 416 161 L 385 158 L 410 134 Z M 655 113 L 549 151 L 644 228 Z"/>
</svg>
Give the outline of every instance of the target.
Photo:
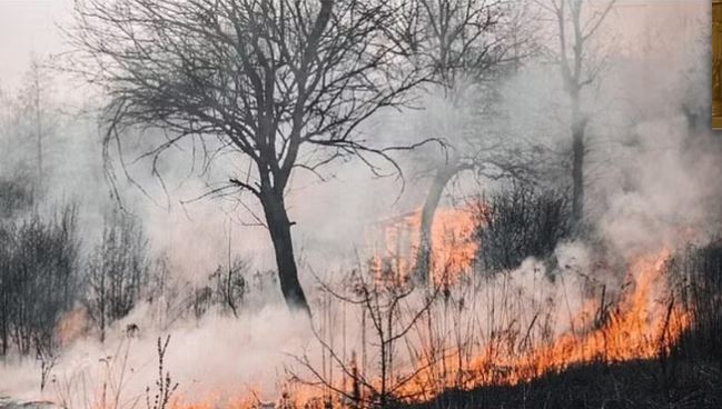
<svg viewBox="0 0 722 409">
<path fill-rule="evenodd" d="M 590 6 L 584 0 L 537 2 L 551 13 L 557 29 L 556 60 L 571 103 L 572 220 L 575 226 L 584 218 L 584 158 L 590 121 L 590 112 L 583 109 L 582 93 L 585 88 L 597 83 L 600 73 L 606 67 L 605 56 L 595 54 L 590 44 L 615 2 L 609 0 L 599 6 Z"/>
</svg>

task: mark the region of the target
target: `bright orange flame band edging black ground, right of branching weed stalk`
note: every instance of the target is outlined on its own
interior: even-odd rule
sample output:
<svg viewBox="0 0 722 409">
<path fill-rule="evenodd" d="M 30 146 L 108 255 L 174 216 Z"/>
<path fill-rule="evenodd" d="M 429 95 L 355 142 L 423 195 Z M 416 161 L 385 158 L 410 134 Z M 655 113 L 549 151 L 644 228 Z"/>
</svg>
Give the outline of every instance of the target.
<svg viewBox="0 0 722 409">
<path fill-rule="evenodd" d="M 597 322 L 599 300 L 587 302 L 573 318 L 572 329 L 551 342 L 526 352 L 511 351 L 501 345 L 488 345 L 473 359 L 463 380 L 445 379 L 443 387 L 454 385 L 472 389 L 491 385 L 515 385 L 577 363 L 620 362 L 649 359 L 669 353 L 689 327 L 691 315 L 670 297 L 664 263 L 670 252 L 643 256 L 627 271 L 631 286 L 621 301 Z M 412 388 L 421 390 L 438 383 L 429 370 L 417 377 Z M 455 368 L 461 371 L 461 368 Z M 458 372 L 457 371 L 457 372 Z M 454 371 L 446 370 L 447 373 Z M 438 388 L 434 388 L 438 392 Z M 434 393 L 427 396 L 432 398 Z"/>
</svg>

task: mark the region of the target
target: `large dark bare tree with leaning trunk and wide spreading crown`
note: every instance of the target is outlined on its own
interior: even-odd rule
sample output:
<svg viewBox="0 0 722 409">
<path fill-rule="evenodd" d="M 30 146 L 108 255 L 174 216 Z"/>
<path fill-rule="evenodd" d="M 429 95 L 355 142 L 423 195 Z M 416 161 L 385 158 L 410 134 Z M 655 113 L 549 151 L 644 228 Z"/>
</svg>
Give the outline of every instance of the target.
<svg viewBox="0 0 722 409">
<path fill-rule="evenodd" d="M 308 310 L 285 192 L 296 169 L 319 174 L 350 156 L 379 171 L 369 154 L 392 160 L 358 132 L 422 79 L 385 30 L 396 19 L 392 3 L 87 0 L 76 17 L 76 57 L 90 63 L 76 67 L 110 97 L 106 147 L 139 124 L 170 131 L 147 152 L 154 161 L 181 140 L 198 142 L 208 161 L 220 151 L 250 160 L 215 192 L 258 200 L 286 302 Z"/>
</svg>

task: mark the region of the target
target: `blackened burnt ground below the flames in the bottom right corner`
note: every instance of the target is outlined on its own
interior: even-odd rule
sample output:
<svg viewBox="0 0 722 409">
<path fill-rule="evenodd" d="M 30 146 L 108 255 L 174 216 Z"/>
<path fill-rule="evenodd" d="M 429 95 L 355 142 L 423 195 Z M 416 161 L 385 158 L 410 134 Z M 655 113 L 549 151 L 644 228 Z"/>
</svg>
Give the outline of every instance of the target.
<svg viewBox="0 0 722 409">
<path fill-rule="evenodd" d="M 527 383 L 449 390 L 408 409 L 722 409 L 719 365 L 675 360 L 589 363 Z"/>
</svg>

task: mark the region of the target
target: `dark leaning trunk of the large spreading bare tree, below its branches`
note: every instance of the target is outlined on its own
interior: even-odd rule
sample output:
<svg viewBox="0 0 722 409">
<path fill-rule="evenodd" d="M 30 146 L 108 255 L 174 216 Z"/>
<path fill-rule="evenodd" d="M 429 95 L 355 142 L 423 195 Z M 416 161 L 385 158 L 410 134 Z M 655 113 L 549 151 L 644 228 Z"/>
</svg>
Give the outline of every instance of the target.
<svg viewBox="0 0 722 409">
<path fill-rule="evenodd" d="M 268 232 L 274 242 L 276 266 L 278 267 L 278 281 L 286 305 L 291 310 L 301 310 L 310 315 L 306 295 L 298 281 L 298 270 L 294 257 L 294 243 L 290 236 L 290 221 L 284 203 L 283 196 L 275 192 L 261 193 L 261 203 L 268 223 Z"/>
</svg>

